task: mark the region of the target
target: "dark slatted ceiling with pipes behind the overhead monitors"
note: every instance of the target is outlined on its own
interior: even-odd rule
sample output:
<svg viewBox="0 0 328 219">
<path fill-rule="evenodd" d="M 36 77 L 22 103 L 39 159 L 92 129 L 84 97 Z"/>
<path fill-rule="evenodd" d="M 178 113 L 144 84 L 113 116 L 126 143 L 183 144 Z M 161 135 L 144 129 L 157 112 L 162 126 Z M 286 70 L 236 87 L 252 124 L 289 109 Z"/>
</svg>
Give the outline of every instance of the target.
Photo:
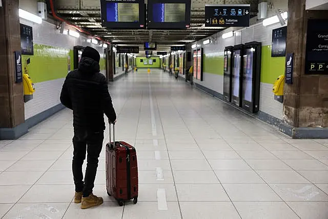
<svg viewBox="0 0 328 219">
<path fill-rule="evenodd" d="M 145 1 L 147 3 L 147 0 Z M 117 45 L 143 45 L 156 42 L 157 50 L 171 45 L 185 45 L 210 36 L 222 29 L 204 27 L 205 4 L 251 4 L 251 16 L 257 14 L 259 0 L 192 0 L 191 24 L 187 30 L 108 30 L 100 23 L 99 0 L 55 0 L 55 11 L 72 24 Z"/>
</svg>

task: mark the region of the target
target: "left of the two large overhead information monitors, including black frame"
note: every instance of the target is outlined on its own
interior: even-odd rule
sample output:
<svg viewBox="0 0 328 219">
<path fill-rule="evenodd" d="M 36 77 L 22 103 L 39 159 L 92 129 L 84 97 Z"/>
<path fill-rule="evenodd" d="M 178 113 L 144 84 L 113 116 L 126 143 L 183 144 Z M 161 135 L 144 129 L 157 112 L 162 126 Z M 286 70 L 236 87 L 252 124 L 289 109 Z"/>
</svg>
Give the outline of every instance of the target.
<svg viewBox="0 0 328 219">
<path fill-rule="evenodd" d="M 145 0 L 101 0 L 100 5 L 103 27 L 145 28 Z"/>
</svg>

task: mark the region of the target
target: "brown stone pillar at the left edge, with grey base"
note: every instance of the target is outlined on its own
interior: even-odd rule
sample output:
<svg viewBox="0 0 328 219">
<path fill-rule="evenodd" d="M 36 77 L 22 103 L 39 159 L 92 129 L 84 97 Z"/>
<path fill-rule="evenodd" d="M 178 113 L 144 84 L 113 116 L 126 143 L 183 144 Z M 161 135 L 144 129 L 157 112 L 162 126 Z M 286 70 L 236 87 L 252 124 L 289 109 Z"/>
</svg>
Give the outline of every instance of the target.
<svg viewBox="0 0 328 219">
<path fill-rule="evenodd" d="M 0 7 L 0 140 L 26 133 L 22 83 L 15 83 L 14 51 L 20 51 L 18 0 L 3 0 Z"/>
</svg>

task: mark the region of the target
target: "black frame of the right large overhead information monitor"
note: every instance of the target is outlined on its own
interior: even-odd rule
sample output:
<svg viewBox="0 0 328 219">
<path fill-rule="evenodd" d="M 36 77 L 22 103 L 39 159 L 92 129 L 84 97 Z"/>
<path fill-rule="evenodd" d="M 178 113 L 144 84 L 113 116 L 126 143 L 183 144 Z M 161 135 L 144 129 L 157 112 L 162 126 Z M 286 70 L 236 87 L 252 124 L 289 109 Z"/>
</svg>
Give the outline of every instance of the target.
<svg viewBox="0 0 328 219">
<path fill-rule="evenodd" d="M 154 4 L 186 4 L 185 22 L 152 22 Z M 148 0 L 147 2 L 147 29 L 178 29 L 185 30 L 190 27 L 191 0 Z"/>
</svg>

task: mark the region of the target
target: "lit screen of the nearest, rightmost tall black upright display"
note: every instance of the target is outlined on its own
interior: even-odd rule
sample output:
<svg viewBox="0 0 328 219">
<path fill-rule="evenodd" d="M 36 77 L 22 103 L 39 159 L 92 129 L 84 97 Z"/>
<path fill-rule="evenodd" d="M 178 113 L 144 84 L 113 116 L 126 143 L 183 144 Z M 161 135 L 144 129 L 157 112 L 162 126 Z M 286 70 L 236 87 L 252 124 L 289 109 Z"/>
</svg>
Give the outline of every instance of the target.
<svg viewBox="0 0 328 219">
<path fill-rule="evenodd" d="M 253 55 L 254 50 L 246 49 L 244 55 L 244 65 L 243 65 L 243 99 L 248 102 L 252 102 L 252 89 L 253 89 Z"/>
</svg>

